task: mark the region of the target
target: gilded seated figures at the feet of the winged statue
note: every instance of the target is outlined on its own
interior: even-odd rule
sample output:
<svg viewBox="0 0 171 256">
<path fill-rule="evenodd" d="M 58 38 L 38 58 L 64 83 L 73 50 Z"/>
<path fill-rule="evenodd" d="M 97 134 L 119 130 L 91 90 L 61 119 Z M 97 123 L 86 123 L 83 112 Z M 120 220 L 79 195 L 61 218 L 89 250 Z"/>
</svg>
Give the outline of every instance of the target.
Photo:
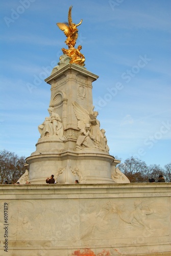
<svg viewBox="0 0 171 256">
<path fill-rule="evenodd" d="M 74 47 L 71 47 L 69 49 L 62 48 L 62 52 L 71 58 L 69 63 L 75 63 L 81 66 L 85 66 L 84 64 L 85 57 L 80 52 L 81 49 L 82 49 L 82 46 L 78 46 L 77 49 L 75 49 Z"/>
</svg>

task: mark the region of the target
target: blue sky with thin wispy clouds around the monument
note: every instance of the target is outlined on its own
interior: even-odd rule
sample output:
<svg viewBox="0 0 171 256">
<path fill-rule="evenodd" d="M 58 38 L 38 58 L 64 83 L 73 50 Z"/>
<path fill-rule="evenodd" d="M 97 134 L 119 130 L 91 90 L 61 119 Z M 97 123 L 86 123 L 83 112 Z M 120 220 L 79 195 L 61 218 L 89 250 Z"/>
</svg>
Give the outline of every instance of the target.
<svg viewBox="0 0 171 256">
<path fill-rule="evenodd" d="M 83 19 L 76 46 L 99 76 L 93 104 L 110 154 L 163 167 L 171 156 L 169 0 L 1 0 L 0 150 L 36 150 L 51 97 L 44 79 L 66 48 L 56 23 L 70 5 L 72 21 Z"/>
</svg>

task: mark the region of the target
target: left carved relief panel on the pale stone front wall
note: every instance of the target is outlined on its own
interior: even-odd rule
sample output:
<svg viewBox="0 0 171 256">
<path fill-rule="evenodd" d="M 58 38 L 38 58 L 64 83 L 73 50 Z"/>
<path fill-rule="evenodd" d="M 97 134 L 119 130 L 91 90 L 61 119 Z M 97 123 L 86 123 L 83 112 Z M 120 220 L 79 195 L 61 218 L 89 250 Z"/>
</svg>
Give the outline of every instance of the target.
<svg viewBox="0 0 171 256">
<path fill-rule="evenodd" d="M 64 240 L 78 238 L 79 230 L 72 230 L 79 221 L 75 202 L 65 200 L 10 201 L 9 240 Z M 69 210 L 69 211 L 68 211 Z M 4 236 L 4 234 L 3 234 Z M 0 239 L 3 240 L 3 237 Z"/>
</svg>

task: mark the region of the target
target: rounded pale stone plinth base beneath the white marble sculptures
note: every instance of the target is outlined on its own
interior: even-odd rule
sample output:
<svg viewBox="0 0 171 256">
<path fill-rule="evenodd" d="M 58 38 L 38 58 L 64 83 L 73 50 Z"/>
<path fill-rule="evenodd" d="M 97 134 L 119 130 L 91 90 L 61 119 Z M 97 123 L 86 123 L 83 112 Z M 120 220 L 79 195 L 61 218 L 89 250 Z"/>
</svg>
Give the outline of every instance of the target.
<svg viewBox="0 0 171 256">
<path fill-rule="evenodd" d="M 41 154 L 36 151 L 26 160 L 30 165 L 31 184 L 45 184 L 46 178 L 52 174 L 59 184 L 74 184 L 76 179 L 81 184 L 129 182 L 124 174 L 115 172 L 115 166 L 120 161 L 94 148 L 42 151 Z M 112 179 L 114 172 L 116 178 Z"/>
</svg>

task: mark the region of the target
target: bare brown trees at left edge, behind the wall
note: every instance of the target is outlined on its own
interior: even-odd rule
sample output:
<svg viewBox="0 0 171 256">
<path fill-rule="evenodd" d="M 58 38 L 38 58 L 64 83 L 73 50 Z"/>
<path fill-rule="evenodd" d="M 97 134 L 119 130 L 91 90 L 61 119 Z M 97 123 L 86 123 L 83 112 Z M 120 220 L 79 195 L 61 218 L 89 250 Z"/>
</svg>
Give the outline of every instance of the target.
<svg viewBox="0 0 171 256">
<path fill-rule="evenodd" d="M 25 157 L 9 151 L 0 151 L 0 184 L 15 183 L 25 173 Z"/>
</svg>

